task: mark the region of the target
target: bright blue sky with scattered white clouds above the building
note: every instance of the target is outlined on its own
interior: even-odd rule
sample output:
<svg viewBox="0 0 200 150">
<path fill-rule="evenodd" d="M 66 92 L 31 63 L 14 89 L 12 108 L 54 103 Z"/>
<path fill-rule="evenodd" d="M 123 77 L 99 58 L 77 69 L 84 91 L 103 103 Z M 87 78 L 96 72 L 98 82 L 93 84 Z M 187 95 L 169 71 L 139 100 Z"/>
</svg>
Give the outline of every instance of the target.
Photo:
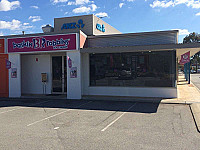
<svg viewBox="0 0 200 150">
<path fill-rule="evenodd" d="M 42 32 L 54 18 L 95 14 L 122 33 L 200 33 L 200 0 L 0 0 L 0 35 Z"/>
</svg>

